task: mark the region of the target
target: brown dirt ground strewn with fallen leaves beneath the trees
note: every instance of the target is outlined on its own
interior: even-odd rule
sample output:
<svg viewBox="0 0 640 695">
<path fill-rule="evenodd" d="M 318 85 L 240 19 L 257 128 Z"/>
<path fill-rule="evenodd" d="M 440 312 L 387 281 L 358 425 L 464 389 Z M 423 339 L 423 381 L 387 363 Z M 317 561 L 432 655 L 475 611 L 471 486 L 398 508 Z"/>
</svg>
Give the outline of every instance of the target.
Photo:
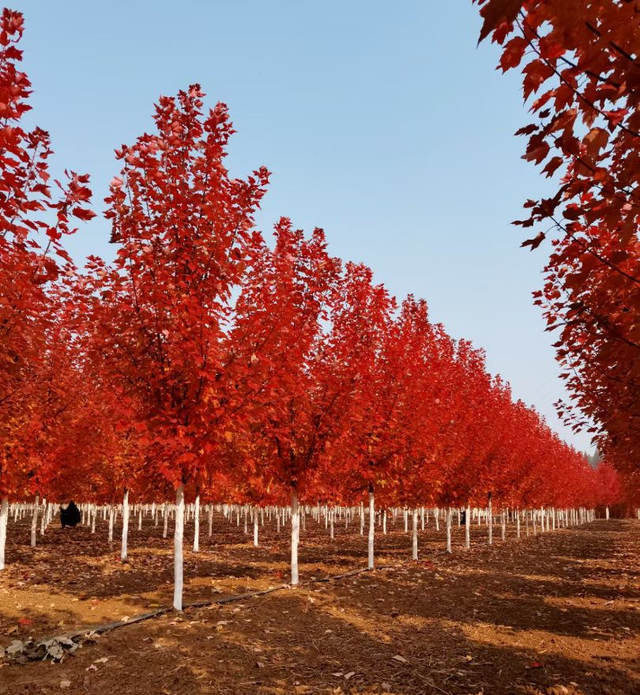
<svg viewBox="0 0 640 695">
<path fill-rule="evenodd" d="M 264 589 L 288 578 L 288 528 L 251 535 L 216 515 L 201 552 L 186 553 L 185 602 Z M 249 531 L 251 532 L 251 528 Z M 418 695 L 634 695 L 640 693 L 640 522 L 596 521 L 442 553 L 433 520 L 409 560 L 401 519 L 377 535 L 384 568 L 311 582 L 223 606 L 129 625 L 85 643 L 60 664 L 0 666 L 0 694 L 183 695 L 390 693 Z M 187 526 L 187 535 L 192 524 Z M 130 562 L 118 560 L 105 522 L 49 527 L 28 545 L 28 520 L 10 523 L 0 577 L 0 646 L 70 632 L 166 605 L 171 539 L 132 522 Z M 307 517 L 302 580 L 362 567 L 357 524 Z"/>
</svg>

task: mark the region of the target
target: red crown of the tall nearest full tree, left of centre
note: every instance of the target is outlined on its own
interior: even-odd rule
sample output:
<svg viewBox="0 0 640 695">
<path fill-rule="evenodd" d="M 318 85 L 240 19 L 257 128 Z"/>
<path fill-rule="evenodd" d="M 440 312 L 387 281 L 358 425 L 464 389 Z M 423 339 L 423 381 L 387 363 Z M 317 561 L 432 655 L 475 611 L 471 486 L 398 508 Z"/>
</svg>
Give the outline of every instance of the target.
<svg viewBox="0 0 640 695">
<path fill-rule="evenodd" d="M 112 268 L 96 266 L 103 301 L 94 294 L 89 302 L 105 379 L 145 423 L 160 472 L 183 482 L 221 465 L 205 443 L 229 444 L 232 434 L 224 331 L 269 176 L 228 175 L 227 109 L 203 111 L 202 96 L 193 85 L 161 97 L 157 132 L 117 152 L 125 167 L 111 181 L 106 213 L 117 258 Z"/>
</svg>

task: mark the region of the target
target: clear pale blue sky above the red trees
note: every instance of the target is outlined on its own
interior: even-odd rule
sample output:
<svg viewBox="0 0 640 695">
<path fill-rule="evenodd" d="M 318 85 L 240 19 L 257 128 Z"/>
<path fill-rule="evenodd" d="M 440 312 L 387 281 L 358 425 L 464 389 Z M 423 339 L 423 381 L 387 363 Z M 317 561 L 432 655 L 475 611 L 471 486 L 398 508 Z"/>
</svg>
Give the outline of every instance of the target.
<svg viewBox="0 0 640 695">
<path fill-rule="evenodd" d="M 546 190 L 513 133 L 528 123 L 517 74 L 476 48 L 470 0 L 14 0 L 26 18 L 33 118 L 58 167 L 87 171 L 99 206 L 113 150 L 152 128 L 153 103 L 200 82 L 229 105 L 230 166 L 272 185 L 259 218 L 323 227 L 331 251 L 370 265 L 397 296 L 486 349 L 580 449 L 553 402 L 564 391 L 531 292 L 543 249 L 521 250 L 522 203 Z M 111 256 L 100 218 L 72 241 L 78 260 Z"/>
</svg>

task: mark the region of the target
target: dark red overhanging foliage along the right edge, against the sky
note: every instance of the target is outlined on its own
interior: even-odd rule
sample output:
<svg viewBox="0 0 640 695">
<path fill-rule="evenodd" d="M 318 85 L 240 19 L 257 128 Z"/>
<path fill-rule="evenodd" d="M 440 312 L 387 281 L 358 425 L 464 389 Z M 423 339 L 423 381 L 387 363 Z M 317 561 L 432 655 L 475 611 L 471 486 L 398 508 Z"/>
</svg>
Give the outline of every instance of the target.
<svg viewBox="0 0 640 695">
<path fill-rule="evenodd" d="M 560 330 L 558 359 L 577 408 L 564 404 L 562 412 L 629 473 L 640 460 L 637 7 L 614 0 L 478 4 L 480 38 L 493 32 L 503 45 L 501 67 L 525 59 L 525 98 L 544 89 L 532 107 L 538 122 L 518 131 L 529 137 L 525 159 L 548 177 L 563 172 L 554 205 L 528 204 L 530 217 L 518 223 L 547 221 L 557 232 L 536 303 Z M 523 246 L 533 249 L 545 235 Z"/>
</svg>

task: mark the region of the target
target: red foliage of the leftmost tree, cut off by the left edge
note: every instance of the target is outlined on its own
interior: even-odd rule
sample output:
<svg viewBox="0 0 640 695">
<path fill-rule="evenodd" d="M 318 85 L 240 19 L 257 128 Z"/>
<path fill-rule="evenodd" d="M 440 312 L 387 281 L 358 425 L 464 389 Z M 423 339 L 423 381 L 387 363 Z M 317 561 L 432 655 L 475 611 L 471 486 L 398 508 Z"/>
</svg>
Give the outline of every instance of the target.
<svg viewBox="0 0 640 695">
<path fill-rule="evenodd" d="M 0 492 L 28 494 L 46 483 L 70 398 L 62 280 L 73 266 L 61 239 L 75 231 L 69 215 L 94 213 L 88 176 L 70 173 L 51 194 L 49 136 L 21 124 L 30 108 L 22 15 L 5 9 L 0 22 Z"/>
</svg>

